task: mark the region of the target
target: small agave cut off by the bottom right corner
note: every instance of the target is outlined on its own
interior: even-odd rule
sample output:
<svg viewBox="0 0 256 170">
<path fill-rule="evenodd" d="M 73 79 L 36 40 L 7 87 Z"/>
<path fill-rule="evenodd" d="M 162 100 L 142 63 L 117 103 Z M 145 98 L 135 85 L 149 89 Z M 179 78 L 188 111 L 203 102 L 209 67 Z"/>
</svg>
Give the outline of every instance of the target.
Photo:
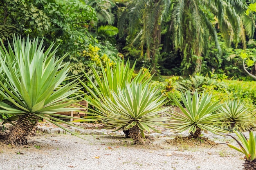
<svg viewBox="0 0 256 170">
<path fill-rule="evenodd" d="M 231 144 L 227 144 L 230 148 L 237 150 L 238 152 L 242 152 L 245 155 L 245 170 L 255 170 L 256 169 L 256 135 L 254 137 L 253 131 L 249 130 L 249 139 L 243 135 L 242 132 L 236 132 L 236 136 L 240 139 L 238 141 L 235 137 L 229 135 L 233 139 L 236 140 L 238 147 L 233 146 Z"/>
</svg>

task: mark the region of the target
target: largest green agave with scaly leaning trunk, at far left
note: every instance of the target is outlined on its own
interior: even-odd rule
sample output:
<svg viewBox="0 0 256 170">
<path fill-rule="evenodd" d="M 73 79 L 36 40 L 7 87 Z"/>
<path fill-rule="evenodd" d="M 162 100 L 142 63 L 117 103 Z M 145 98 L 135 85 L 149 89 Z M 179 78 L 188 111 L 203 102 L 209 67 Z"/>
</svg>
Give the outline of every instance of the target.
<svg viewBox="0 0 256 170">
<path fill-rule="evenodd" d="M 79 83 L 74 79 L 61 85 L 65 79 L 75 77 L 67 77 L 70 66 L 63 63 L 67 54 L 55 58 L 57 48 L 53 49 L 53 46 L 52 43 L 44 52 L 43 40 L 38 44 L 38 38 L 32 42 L 27 38 L 25 42 L 13 37 L 13 49 L 10 43 L 9 51 L 4 46 L 0 48 L 0 113 L 18 116 L 15 126 L 7 134 L 9 143 L 26 144 L 27 135 L 35 128 L 39 118 L 65 129 L 57 122 L 70 123 L 53 116 L 69 117 L 55 113 L 77 110 L 65 107 L 76 102 L 76 97 L 67 97 L 80 89 Z"/>
</svg>

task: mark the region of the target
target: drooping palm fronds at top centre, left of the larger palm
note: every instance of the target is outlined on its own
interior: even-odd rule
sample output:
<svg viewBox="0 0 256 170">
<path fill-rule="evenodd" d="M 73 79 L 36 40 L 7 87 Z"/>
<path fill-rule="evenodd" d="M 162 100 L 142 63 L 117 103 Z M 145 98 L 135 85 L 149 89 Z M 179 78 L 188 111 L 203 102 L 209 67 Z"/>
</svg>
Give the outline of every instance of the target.
<svg viewBox="0 0 256 170">
<path fill-rule="evenodd" d="M 118 18 L 119 36 L 124 35 L 128 25 L 130 35 L 136 35 L 132 44 L 139 45 L 142 56 L 146 50 L 146 57 L 153 66 L 153 72 L 156 71 L 161 43 L 161 22 L 170 4 L 171 0 L 129 1 Z"/>
</svg>

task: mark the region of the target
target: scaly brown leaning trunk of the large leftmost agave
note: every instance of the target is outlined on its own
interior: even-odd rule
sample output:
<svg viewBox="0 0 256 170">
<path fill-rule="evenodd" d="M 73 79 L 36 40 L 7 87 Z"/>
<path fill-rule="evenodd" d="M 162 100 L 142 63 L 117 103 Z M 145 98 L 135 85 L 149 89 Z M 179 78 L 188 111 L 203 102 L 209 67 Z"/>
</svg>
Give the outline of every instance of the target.
<svg viewBox="0 0 256 170">
<path fill-rule="evenodd" d="M 27 144 L 27 136 L 36 128 L 38 119 L 39 117 L 31 113 L 21 115 L 16 125 L 10 129 L 7 142 L 12 145 Z"/>
</svg>

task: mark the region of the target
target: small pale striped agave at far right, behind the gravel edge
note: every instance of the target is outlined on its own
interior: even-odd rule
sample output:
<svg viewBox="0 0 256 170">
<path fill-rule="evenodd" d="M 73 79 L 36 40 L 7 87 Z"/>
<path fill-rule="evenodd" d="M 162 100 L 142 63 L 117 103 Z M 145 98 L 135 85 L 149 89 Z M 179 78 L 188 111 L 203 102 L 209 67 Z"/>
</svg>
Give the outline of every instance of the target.
<svg viewBox="0 0 256 170">
<path fill-rule="evenodd" d="M 253 125 L 252 114 L 247 111 L 243 103 L 237 100 L 227 101 L 219 110 L 224 113 L 222 122 L 228 122 L 229 130 L 245 131 L 249 130 L 249 125 Z"/>
</svg>

